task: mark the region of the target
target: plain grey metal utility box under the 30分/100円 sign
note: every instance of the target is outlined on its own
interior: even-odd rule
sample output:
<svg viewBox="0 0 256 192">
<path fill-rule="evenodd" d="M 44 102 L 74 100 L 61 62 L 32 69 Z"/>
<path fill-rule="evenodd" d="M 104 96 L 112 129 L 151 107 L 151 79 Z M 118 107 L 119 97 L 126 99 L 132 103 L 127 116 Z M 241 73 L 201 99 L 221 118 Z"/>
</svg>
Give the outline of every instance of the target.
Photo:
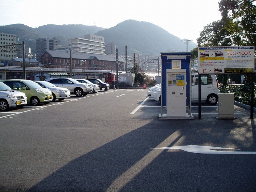
<svg viewBox="0 0 256 192">
<path fill-rule="evenodd" d="M 234 93 L 219 93 L 218 118 L 234 118 Z"/>
</svg>

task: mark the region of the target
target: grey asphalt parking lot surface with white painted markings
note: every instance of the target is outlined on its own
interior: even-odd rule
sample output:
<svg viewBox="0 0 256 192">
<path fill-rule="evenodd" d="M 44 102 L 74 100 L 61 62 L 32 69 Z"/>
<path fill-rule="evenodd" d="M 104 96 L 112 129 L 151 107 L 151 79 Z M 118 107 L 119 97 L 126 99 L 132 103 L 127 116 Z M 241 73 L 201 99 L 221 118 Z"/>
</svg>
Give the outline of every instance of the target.
<svg viewBox="0 0 256 192">
<path fill-rule="evenodd" d="M 218 106 L 202 103 L 198 119 L 192 103 L 194 120 L 159 120 L 146 95 L 108 90 L 0 112 L 0 191 L 255 190 L 250 110 L 218 120 Z"/>
</svg>

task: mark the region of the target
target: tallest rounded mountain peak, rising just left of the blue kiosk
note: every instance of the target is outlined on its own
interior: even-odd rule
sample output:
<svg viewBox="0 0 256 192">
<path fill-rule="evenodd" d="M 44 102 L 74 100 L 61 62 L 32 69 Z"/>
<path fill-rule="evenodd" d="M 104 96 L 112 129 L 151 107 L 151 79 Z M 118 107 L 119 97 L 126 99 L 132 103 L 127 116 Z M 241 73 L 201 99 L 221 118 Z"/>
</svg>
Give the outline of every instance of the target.
<svg viewBox="0 0 256 192">
<path fill-rule="evenodd" d="M 124 54 L 126 45 L 128 52 L 139 54 L 160 55 L 160 52 L 186 51 L 186 44 L 180 38 L 148 22 L 126 20 L 96 35 L 104 36 L 105 42 L 114 42 L 121 54 Z M 188 44 L 188 50 L 195 47 L 194 42 Z"/>
</svg>

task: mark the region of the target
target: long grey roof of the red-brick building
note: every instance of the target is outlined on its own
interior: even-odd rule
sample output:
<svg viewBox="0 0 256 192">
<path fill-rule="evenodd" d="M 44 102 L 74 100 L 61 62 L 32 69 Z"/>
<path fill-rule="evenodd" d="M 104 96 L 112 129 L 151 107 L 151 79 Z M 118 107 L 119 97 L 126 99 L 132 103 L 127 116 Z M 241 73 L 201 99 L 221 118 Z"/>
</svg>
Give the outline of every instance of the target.
<svg viewBox="0 0 256 192">
<path fill-rule="evenodd" d="M 45 52 L 48 52 L 48 54 L 50 54 L 54 58 L 67 58 L 67 59 L 70 58 L 69 51 L 66 52 L 66 51 L 46 50 Z M 92 60 L 93 58 L 96 58 L 102 61 L 115 61 L 115 57 L 113 55 L 101 55 L 101 54 L 89 54 L 89 53 L 77 53 L 77 52 L 72 53 L 72 58 L 80 59 L 80 60 Z"/>
</svg>

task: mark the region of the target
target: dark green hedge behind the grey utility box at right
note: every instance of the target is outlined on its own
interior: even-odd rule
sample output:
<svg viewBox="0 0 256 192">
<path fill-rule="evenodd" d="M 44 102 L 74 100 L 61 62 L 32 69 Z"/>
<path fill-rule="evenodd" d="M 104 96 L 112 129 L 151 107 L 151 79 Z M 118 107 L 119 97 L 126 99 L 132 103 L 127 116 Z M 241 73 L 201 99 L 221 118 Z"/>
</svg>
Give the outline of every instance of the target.
<svg viewBox="0 0 256 192">
<path fill-rule="evenodd" d="M 228 85 L 219 84 L 220 93 L 234 93 L 234 100 L 240 103 L 250 105 L 251 90 L 246 85 Z M 256 107 L 256 86 L 254 86 L 254 107 Z"/>
</svg>

